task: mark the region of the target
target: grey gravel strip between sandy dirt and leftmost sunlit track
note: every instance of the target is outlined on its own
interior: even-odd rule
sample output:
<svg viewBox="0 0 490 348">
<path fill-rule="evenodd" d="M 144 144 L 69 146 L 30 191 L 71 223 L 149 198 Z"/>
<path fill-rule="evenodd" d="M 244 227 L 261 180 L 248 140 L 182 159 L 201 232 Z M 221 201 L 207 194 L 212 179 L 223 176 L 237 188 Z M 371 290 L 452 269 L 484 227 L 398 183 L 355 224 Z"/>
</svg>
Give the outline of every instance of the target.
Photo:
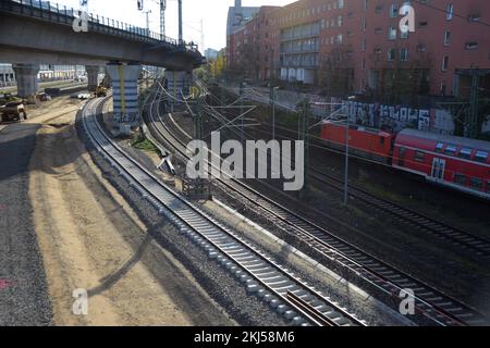
<svg viewBox="0 0 490 348">
<path fill-rule="evenodd" d="M 215 260 L 209 259 L 204 250 L 181 235 L 163 215 L 158 213 L 154 206 L 143 199 L 139 192 L 131 188 L 127 182 L 119 176 L 118 171 L 111 167 L 95 150 L 85 133 L 79 114 L 76 128 L 94 162 L 102 171 L 103 177 L 132 204 L 147 226 L 148 233 L 193 274 L 208 295 L 224 308 L 233 320 L 240 325 L 286 324 L 282 316 L 273 312 L 269 306 L 247 294 L 242 283 Z M 192 299 L 188 300 L 192 301 Z"/>
</svg>

